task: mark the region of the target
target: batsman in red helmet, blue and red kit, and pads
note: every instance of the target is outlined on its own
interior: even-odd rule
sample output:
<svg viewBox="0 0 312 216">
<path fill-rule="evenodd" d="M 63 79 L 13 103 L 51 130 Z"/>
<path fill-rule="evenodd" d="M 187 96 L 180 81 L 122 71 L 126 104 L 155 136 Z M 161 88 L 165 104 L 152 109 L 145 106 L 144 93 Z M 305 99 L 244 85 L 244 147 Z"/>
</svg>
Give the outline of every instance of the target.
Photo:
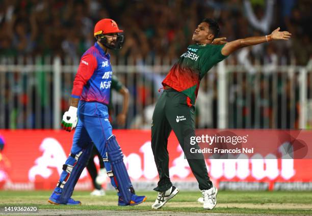
<svg viewBox="0 0 312 216">
<path fill-rule="evenodd" d="M 135 194 L 123 163 L 123 153 L 112 134 L 109 121 L 112 67 L 108 49 L 122 47 L 122 32 L 112 19 L 101 19 L 94 27 L 96 42 L 81 58 L 73 82 L 71 104 L 61 123 L 66 131 L 76 128 L 72 147 L 57 187 L 48 199 L 49 203 L 81 205 L 71 195 L 90 157 L 93 143 L 100 152 L 112 185 L 117 190 L 118 205 L 137 205 L 146 200 L 145 196 Z"/>
</svg>

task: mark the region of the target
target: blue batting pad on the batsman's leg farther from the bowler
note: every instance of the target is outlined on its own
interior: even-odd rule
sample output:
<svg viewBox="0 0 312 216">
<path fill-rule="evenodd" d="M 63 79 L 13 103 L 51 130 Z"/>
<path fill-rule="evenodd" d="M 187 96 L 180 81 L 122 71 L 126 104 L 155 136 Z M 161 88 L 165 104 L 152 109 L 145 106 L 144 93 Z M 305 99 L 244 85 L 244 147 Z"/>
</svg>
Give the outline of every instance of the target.
<svg viewBox="0 0 312 216">
<path fill-rule="evenodd" d="M 63 172 L 55 190 L 57 193 L 61 193 L 61 203 L 67 203 L 68 199 L 71 197 L 73 189 L 82 171 L 86 167 L 90 157 L 91 147 L 88 146 L 79 152 L 71 152 L 63 165 Z"/>
</svg>

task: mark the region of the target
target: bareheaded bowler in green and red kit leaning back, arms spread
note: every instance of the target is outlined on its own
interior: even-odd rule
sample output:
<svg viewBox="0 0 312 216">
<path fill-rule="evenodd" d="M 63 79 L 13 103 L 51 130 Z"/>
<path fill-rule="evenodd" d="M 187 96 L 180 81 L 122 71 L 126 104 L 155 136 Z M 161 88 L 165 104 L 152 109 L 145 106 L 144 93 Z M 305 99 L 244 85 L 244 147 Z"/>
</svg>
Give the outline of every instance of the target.
<svg viewBox="0 0 312 216">
<path fill-rule="evenodd" d="M 202 153 L 190 152 L 190 137 L 195 136 L 195 100 L 200 80 L 217 63 L 234 51 L 273 40 L 289 40 L 289 32 L 275 29 L 270 35 L 238 39 L 225 44 L 218 37 L 219 25 L 213 19 L 204 19 L 195 29 L 190 45 L 163 80 L 164 91 L 152 116 L 151 148 L 159 173 L 158 197 L 152 208 L 161 208 L 179 190 L 169 178 L 168 137 L 173 130 L 184 150 L 190 168 L 198 181 L 203 196 L 203 208 L 213 209 L 217 204 L 218 190 L 211 182 Z M 215 43 L 217 42 L 217 43 Z M 216 44 L 216 45 L 214 45 Z M 198 144 L 192 148 L 199 148 Z"/>
</svg>

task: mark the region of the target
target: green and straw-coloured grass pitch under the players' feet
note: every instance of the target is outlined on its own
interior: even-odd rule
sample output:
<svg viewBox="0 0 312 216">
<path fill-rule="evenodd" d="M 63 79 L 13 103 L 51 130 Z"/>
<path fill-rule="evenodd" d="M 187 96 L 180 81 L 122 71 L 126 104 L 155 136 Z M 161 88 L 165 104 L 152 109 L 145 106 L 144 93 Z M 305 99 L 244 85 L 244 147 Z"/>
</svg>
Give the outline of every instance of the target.
<svg viewBox="0 0 312 216">
<path fill-rule="evenodd" d="M 81 206 L 52 205 L 47 203 L 51 191 L 0 191 L 0 208 L 4 206 L 37 206 L 39 209 L 75 209 L 75 210 L 115 210 L 115 211 L 156 211 L 151 204 L 157 193 L 137 192 L 146 195 L 145 203 L 138 206 L 117 206 L 117 196 L 113 191 L 103 197 L 92 197 L 90 192 L 74 192 L 72 198 L 80 200 Z M 312 215 L 312 192 L 243 192 L 219 191 L 215 209 L 204 210 L 197 202 L 198 192 L 180 191 L 166 205 L 157 211 L 175 212 L 215 212 L 246 214 L 288 214 Z"/>
</svg>

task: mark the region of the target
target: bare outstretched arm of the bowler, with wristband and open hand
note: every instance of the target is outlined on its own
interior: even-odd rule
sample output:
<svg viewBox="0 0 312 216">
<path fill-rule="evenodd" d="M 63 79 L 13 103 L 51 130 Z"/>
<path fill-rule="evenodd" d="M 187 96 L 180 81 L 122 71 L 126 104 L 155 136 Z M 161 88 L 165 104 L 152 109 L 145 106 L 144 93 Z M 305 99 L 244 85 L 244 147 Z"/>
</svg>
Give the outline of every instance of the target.
<svg viewBox="0 0 312 216">
<path fill-rule="evenodd" d="M 289 32 L 279 32 L 279 29 L 280 29 L 279 27 L 276 28 L 271 33 L 271 35 L 250 37 L 250 38 L 238 39 L 235 41 L 228 42 L 221 49 L 221 53 L 222 55 L 229 55 L 232 52 L 240 48 L 246 47 L 246 46 L 262 44 L 262 43 L 266 43 L 272 40 L 289 40 L 292 34 Z"/>
</svg>

